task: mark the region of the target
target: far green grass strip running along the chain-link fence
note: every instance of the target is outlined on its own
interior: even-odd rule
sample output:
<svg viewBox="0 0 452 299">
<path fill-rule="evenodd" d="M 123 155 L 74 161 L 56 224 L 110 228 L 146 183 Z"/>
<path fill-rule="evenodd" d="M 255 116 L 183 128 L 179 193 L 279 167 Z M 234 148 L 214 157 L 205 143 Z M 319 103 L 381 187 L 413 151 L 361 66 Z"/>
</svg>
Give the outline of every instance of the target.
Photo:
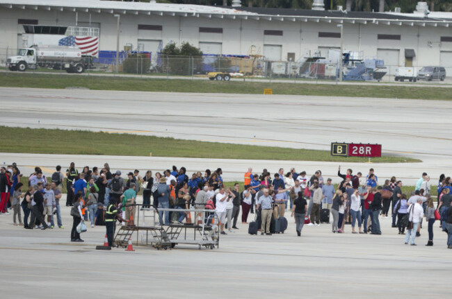
<svg viewBox="0 0 452 299">
<path fill-rule="evenodd" d="M 33 73 L 8 72 L 0 74 L 0 86 L 57 88 L 86 87 L 94 90 L 124 90 L 141 92 L 204 92 L 263 94 L 264 88 L 273 89 L 273 94 L 293 94 L 308 96 L 351 96 L 393 99 L 451 100 L 451 88 L 413 87 L 387 85 L 331 85 L 331 84 L 293 84 L 259 83 L 232 80 L 168 80 L 158 78 L 124 78 L 114 76 L 67 76 Z"/>
</svg>

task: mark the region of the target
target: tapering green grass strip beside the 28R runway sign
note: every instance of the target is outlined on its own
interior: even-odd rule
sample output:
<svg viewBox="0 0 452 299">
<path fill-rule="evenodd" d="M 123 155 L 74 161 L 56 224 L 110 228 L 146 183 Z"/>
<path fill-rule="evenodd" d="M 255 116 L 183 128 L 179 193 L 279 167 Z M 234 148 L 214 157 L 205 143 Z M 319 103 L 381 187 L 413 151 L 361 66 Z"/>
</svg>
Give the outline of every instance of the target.
<svg viewBox="0 0 452 299">
<path fill-rule="evenodd" d="M 0 152 L 69 155 L 132 155 L 201 157 L 211 159 L 366 162 L 362 157 L 332 157 L 329 151 L 300 148 L 199 142 L 195 140 L 82 130 L 10 128 L 0 126 Z M 420 162 L 408 157 L 383 156 L 373 162 Z"/>
</svg>

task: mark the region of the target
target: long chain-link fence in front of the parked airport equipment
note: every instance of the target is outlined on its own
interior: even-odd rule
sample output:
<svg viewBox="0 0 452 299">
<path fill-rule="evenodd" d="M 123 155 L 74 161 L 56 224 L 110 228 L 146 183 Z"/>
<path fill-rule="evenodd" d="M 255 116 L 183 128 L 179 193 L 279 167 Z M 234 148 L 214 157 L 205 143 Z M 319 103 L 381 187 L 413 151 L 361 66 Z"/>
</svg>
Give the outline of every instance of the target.
<svg viewBox="0 0 452 299">
<path fill-rule="evenodd" d="M 211 80 L 223 79 L 225 76 L 216 76 L 216 73 L 228 74 L 227 80 L 275 80 L 287 81 L 339 81 L 339 64 L 323 62 L 315 58 L 306 58 L 298 62 L 283 62 L 266 60 L 261 55 L 235 57 L 223 55 L 180 56 L 180 55 L 152 55 L 152 53 L 137 53 L 133 51 L 120 51 L 118 59 L 115 51 L 102 51 L 97 58 L 68 58 L 67 56 L 38 58 L 34 53 L 19 53 L 26 60 L 26 68 L 8 67 L 10 59 L 18 55 L 18 49 L 0 48 L 0 71 L 10 74 L 16 73 L 83 73 L 111 74 L 115 76 L 159 76 L 167 78 L 209 78 Z M 28 55 L 30 54 L 30 55 Z M 118 65 L 117 65 L 118 61 Z M 76 65 L 83 65 L 76 67 Z M 403 74 L 403 81 L 414 81 L 416 74 L 422 67 L 415 67 L 408 74 Z M 396 65 L 380 65 L 378 60 L 364 60 L 353 62 L 353 65 L 344 65 L 342 74 L 344 81 L 377 81 L 383 83 L 401 82 L 400 69 Z M 452 83 L 451 78 L 433 78 Z M 396 80 L 397 79 L 397 80 Z M 438 83 L 438 80 L 433 80 Z"/>
</svg>

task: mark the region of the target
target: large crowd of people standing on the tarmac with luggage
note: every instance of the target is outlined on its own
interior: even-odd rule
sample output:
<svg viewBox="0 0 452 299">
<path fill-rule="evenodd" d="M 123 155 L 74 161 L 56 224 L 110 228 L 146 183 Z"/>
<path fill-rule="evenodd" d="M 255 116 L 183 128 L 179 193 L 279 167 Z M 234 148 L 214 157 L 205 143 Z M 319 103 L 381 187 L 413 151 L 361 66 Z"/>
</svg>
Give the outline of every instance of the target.
<svg viewBox="0 0 452 299">
<path fill-rule="evenodd" d="M 253 173 L 252 169 L 243 176 L 243 190 L 236 183 L 234 187 L 225 187 L 223 171 L 206 169 L 191 176 L 185 167 L 167 169 L 152 173 L 140 171 L 127 173 L 127 180 L 121 171 L 111 172 L 108 163 L 102 169 L 85 166 L 79 172 L 74 163 L 62 171 L 56 166 L 51 178 L 46 178 L 39 167 L 29 176 L 29 186 L 22 185 L 22 174 L 16 164 L 1 167 L 0 172 L 0 212 L 10 214 L 13 210 L 14 225 L 23 225 L 27 229 L 63 228 L 60 212 L 60 198 L 63 184 L 66 185 L 66 205 L 75 207 L 71 240 L 83 241 L 74 232 L 76 225 L 83 219 L 90 221 L 92 227 L 105 219 L 109 203 L 119 203 L 118 209 L 123 223 L 133 223 L 136 214 L 136 194 L 143 190 L 142 209 L 151 206 L 175 209 L 210 209 L 218 215 L 221 234 L 237 230 L 241 212 L 241 223 L 248 224 L 249 214 L 255 214 L 260 224 L 261 234 L 271 234 L 271 219 L 284 217 L 290 210 L 296 222 L 296 233 L 302 233 L 304 225 L 319 226 L 321 222 L 331 223 L 333 233 L 344 233 L 345 225 L 350 224 L 353 234 L 382 234 L 380 217 L 389 218 L 392 227 L 405 235 L 405 244 L 415 246 L 415 238 L 420 236 L 423 218 L 428 225 L 428 244 L 433 246 L 433 225 L 440 221 L 440 227 L 448 232 L 448 248 L 452 248 L 452 180 L 444 174 L 439 178 L 437 187 L 437 205 L 430 196 L 432 184 L 427 173 L 417 181 L 412 194 L 403 194 L 401 180 L 392 177 L 381 185 L 373 169 L 365 177 L 362 173 L 353 173 L 347 169 L 337 176 L 341 182 L 337 189 L 332 179 L 325 180 L 320 170 L 312 176 L 305 171 L 297 173 L 295 169 L 284 172 L 279 169 L 273 175 L 263 169 Z M 22 212 L 23 221 L 22 221 Z M 328 210 L 328 212 L 327 212 Z M 56 215 L 56 225 L 54 223 Z M 330 221 L 330 216 L 332 220 Z M 108 217 L 107 217 L 108 218 Z M 186 212 L 161 212 L 161 225 L 183 224 Z M 196 219 L 195 219 L 196 221 Z M 104 224 L 104 223 L 103 223 Z M 357 226 L 357 230 L 356 230 Z"/>
</svg>

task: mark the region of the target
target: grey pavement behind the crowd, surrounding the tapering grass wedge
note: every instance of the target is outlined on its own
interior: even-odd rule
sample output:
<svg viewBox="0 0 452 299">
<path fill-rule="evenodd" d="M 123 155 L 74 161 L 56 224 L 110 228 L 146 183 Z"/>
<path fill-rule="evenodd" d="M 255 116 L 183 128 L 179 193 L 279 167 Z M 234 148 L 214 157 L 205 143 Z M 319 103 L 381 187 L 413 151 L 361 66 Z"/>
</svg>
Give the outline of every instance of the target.
<svg viewBox="0 0 452 299">
<path fill-rule="evenodd" d="M 452 142 L 448 136 L 452 102 L 449 101 L 3 87 L 0 88 L 0 105 L 0 124 L 4 126 L 102 130 L 326 151 L 331 142 L 378 143 L 382 144 L 384 154 L 423 161 L 355 164 L 57 155 L 35 159 L 29 154 L 1 154 L 6 164 L 15 161 L 24 166 L 40 164 L 53 169 L 55 164 L 65 165 L 76 160 L 83 166 L 89 160 L 90 165 L 99 166 L 107 161 L 114 169 L 122 170 L 162 170 L 173 164 L 186 167 L 189 164 L 188 171 L 221 167 L 227 180 L 240 180 L 248 166 L 272 172 L 280 167 L 288 170 L 291 166 L 308 173 L 322 169 L 324 176 L 334 178 L 341 164 L 343 169 L 351 167 L 363 173 L 372 166 L 380 182 L 383 178 L 397 176 L 413 184 L 423 171 L 438 178 L 439 174 L 447 172 L 451 161 Z"/>
</svg>

